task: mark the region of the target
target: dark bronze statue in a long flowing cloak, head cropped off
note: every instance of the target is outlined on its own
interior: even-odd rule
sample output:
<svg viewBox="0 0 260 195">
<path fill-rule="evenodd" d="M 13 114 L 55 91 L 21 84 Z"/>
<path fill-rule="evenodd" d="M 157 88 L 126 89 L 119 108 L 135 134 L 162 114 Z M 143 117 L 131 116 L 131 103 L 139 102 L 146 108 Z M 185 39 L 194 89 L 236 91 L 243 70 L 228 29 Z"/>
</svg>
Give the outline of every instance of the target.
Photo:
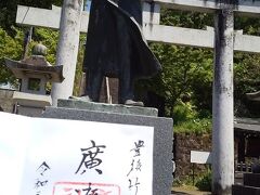
<svg viewBox="0 0 260 195">
<path fill-rule="evenodd" d="M 161 66 L 142 34 L 140 0 L 92 0 L 83 70 L 84 99 L 98 102 L 103 77 L 119 79 L 120 104 L 134 102 L 134 80 L 155 76 Z"/>
</svg>

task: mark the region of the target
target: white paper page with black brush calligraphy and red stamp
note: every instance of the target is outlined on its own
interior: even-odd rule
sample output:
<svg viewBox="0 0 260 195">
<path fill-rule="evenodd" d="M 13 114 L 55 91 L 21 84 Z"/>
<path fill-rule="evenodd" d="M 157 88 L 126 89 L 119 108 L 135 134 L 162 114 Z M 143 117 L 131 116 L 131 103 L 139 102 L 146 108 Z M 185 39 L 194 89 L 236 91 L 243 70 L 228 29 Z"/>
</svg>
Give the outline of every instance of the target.
<svg viewBox="0 0 260 195">
<path fill-rule="evenodd" d="M 4 113 L 0 121 L 0 194 L 153 194 L 153 127 Z"/>
</svg>

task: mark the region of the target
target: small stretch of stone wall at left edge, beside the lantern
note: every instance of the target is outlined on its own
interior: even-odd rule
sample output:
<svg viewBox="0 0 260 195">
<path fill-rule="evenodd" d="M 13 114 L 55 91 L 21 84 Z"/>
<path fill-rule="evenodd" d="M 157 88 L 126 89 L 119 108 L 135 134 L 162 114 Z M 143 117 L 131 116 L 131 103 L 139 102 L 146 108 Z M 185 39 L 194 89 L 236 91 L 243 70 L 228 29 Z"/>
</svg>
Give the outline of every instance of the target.
<svg viewBox="0 0 260 195">
<path fill-rule="evenodd" d="M 0 89 L 0 106 L 4 112 L 13 112 L 13 91 Z"/>
</svg>

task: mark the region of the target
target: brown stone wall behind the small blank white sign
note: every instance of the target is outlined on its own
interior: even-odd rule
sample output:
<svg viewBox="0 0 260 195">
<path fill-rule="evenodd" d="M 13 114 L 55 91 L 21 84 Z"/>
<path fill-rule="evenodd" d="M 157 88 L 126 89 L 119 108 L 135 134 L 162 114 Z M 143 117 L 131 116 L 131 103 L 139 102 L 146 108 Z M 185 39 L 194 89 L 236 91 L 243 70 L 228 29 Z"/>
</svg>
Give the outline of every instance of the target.
<svg viewBox="0 0 260 195">
<path fill-rule="evenodd" d="M 191 151 L 211 152 L 211 134 L 174 134 L 174 161 L 176 172 L 174 179 L 192 178 Z M 194 165 L 195 174 L 202 174 L 206 171 L 207 166 Z"/>
</svg>

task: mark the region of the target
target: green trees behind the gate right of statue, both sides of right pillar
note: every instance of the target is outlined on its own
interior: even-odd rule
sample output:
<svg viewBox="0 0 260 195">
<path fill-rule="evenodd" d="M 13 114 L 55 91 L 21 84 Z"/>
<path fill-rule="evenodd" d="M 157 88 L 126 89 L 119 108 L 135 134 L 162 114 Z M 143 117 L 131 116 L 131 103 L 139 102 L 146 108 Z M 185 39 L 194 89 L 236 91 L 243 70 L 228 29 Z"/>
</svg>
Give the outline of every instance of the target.
<svg viewBox="0 0 260 195">
<path fill-rule="evenodd" d="M 257 18 L 235 17 L 235 28 L 244 34 L 259 36 L 260 22 Z M 213 16 L 206 13 L 161 11 L 164 25 L 199 28 L 213 26 Z M 151 48 L 162 65 L 162 73 L 147 83 L 148 89 L 166 99 L 167 116 L 186 113 L 186 118 L 209 117 L 212 100 L 213 50 L 152 43 Z M 245 102 L 245 93 L 257 91 L 259 84 L 259 54 L 238 53 L 234 55 L 235 103 Z M 141 84 L 141 86 L 142 86 Z M 188 102 L 187 102 L 188 100 Z M 183 104 L 185 103 L 185 104 Z M 180 112 L 182 107 L 182 112 Z M 190 114 L 188 112 L 190 110 Z M 193 113 L 193 114 L 191 114 Z"/>
</svg>

